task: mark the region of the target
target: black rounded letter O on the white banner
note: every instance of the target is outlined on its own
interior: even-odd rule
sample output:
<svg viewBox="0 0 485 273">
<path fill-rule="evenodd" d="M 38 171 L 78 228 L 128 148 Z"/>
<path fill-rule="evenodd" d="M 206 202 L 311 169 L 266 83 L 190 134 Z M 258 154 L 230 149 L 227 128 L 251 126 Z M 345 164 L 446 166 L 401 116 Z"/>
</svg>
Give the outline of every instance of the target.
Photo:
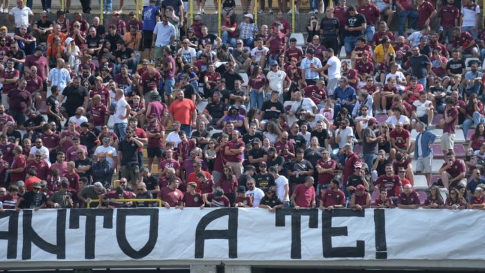
<svg viewBox="0 0 485 273">
<path fill-rule="evenodd" d="M 143 258 L 155 248 L 158 238 L 158 209 L 117 209 L 116 210 L 116 240 L 123 253 L 131 258 Z M 148 241 L 136 251 L 126 238 L 126 216 L 150 216 Z"/>
</svg>

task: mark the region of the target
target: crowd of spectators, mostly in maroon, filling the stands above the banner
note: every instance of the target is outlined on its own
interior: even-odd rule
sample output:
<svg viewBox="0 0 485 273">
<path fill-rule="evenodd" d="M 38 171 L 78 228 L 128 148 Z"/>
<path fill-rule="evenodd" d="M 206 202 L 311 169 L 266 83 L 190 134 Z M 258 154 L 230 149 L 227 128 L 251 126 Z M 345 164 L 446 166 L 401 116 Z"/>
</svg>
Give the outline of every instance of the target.
<svg viewBox="0 0 485 273">
<path fill-rule="evenodd" d="M 303 51 L 283 3 L 258 26 L 224 0 L 218 37 L 203 5 L 188 25 L 180 0 L 150 0 L 143 21 L 112 12 L 106 26 L 62 10 L 49 21 L 50 6 L 33 21 L 17 0 L 15 34 L 0 27 L 0 211 L 154 206 L 116 201 L 136 198 L 168 209 L 484 209 L 479 6 L 339 0 L 320 16 L 310 2 Z"/>
</svg>

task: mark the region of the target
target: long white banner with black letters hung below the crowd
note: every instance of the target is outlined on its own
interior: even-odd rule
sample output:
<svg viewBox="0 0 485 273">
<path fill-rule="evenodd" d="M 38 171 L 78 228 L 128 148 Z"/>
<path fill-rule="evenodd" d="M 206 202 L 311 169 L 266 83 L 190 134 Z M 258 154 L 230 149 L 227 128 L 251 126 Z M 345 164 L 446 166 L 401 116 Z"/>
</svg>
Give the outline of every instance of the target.
<svg viewBox="0 0 485 273">
<path fill-rule="evenodd" d="M 485 259 L 485 211 L 72 209 L 0 213 L 19 261 Z"/>
</svg>

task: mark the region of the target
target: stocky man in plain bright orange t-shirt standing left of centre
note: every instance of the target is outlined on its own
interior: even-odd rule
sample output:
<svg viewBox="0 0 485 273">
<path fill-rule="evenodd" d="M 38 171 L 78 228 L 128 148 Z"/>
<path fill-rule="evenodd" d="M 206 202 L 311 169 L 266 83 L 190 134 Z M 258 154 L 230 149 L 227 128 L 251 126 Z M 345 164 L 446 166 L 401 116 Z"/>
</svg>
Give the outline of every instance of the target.
<svg viewBox="0 0 485 273">
<path fill-rule="evenodd" d="M 168 108 L 170 114 L 170 121 L 178 121 L 180 129 L 184 130 L 188 137 L 191 136 L 192 127 L 197 126 L 197 107 L 193 100 L 184 98 L 184 91 L 177 91 L 177 100 L 175 100 Z"/>
</svg>

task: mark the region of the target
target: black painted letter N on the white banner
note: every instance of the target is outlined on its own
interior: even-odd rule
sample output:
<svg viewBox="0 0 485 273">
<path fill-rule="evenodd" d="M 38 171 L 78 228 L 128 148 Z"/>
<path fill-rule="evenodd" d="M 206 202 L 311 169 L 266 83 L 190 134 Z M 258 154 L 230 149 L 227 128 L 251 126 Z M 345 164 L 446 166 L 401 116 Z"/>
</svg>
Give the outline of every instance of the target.
<svg viewBox="0 0 485 273">
<path fill-rule="evenodd" d="M 32 213 L 31 210 L 24 210 L 22 218 L 24 226 L 24 242 L 22 245 L 22 260 L 30 260 L 32 256 L 32 243 L 37 245 L 40 249 L 55 254 L 58 260 L 66 258 L 66 210 L 58 209 L 57 227 L 55 230 L 56 245 L 47 243 L 42 239 L 32 227 Z"/>
</svg>

